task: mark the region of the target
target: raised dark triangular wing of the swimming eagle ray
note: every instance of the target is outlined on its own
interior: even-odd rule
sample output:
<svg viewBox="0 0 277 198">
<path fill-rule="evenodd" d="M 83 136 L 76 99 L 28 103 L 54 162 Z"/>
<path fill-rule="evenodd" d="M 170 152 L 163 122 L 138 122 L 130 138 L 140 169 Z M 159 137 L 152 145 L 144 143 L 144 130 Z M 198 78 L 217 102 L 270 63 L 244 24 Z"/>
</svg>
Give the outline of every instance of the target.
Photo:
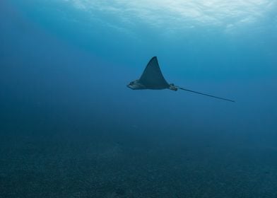
<svg viewBox="0 0 277 198">
<path fill-rule="evenodd" d="M 168 88 L 169 84 L 165 81 L 157 57 L 153 57 L 144 69 L 139 82 L 146 88 Z"/>
</svg>

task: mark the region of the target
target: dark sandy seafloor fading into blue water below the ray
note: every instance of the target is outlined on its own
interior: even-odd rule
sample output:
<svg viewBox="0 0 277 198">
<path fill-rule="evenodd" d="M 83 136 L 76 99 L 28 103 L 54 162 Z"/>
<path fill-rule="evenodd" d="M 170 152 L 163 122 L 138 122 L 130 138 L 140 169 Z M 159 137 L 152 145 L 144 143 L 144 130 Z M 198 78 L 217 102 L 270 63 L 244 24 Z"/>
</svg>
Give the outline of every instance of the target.
<svg viewBox="0 0 277 198">
<path fill-rule="evenodd" d="M 1 197 L 276 197 L 276 149 L 237 136 L 68 133 L 1 136 Z"/>
</svg>

